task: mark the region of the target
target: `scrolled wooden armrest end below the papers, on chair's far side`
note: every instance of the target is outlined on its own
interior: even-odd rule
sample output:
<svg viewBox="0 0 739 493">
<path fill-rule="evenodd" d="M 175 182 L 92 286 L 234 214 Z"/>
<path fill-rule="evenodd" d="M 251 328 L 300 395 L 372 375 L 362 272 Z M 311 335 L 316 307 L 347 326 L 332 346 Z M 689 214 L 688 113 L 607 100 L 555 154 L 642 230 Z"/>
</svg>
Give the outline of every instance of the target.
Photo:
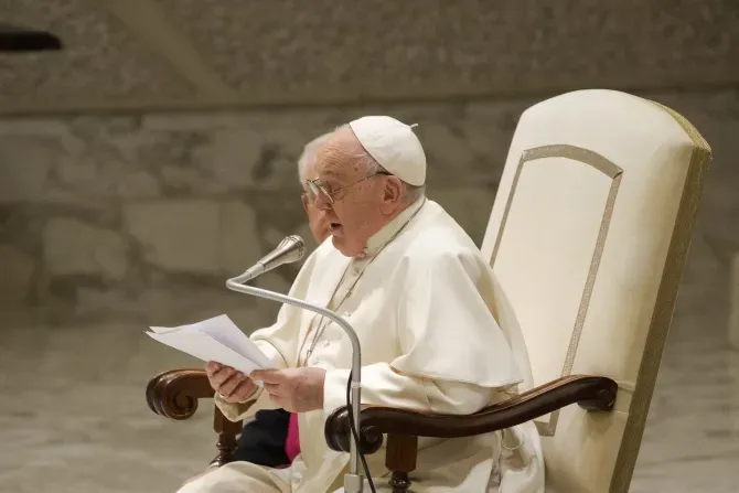
<svg viewBox="0 0 739 493">
<path fill-rule="evenodd" d="M 147 404 L 158 415 L 188 419 L 197 410 L 197 399 L 211 398 L 214 394 L 204 369 L 171 369 L 149 381 Z"/>
</svg>

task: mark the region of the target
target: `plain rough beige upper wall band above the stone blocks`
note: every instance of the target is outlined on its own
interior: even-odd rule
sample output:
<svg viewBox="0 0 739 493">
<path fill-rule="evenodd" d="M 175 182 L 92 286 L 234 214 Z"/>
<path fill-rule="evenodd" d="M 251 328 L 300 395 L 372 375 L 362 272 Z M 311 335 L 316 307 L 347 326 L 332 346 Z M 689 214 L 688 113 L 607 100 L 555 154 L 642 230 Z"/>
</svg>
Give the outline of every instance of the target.
<svg viewBox="0 0 739 493">
<path fill-rule="evenodd" d="M 66 45 L 2 57 L 4 114 L 739 83 L 736 0 L 13 0 L 0 19 Z"/>
</svg>

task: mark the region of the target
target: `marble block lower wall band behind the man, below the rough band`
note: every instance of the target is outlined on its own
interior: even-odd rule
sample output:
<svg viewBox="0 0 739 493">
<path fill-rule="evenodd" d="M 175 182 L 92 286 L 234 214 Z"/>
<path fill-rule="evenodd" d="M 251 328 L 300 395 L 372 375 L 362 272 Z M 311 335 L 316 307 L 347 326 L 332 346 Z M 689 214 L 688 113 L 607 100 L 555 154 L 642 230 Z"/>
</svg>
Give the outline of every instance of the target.
<svg viewBox="0 0 739 493">
<path fill-rule="evenodd" d="M 649 93 L 687 116 L 715 162 L 675 329 L 728 323 L 739 250 L 739 90 Z M 14 118 L 0 121 L 0 303 L 14 323 L 268 323 L 276 307 L 224 280 L 285 235 L 309 238 L 296 160 L 362 114 L 417 128 L 429 195 L 480 243 L 517 117 L 535 98 L 282 111 Z M 286 291 L 294 268 L 266 278 Z"/>
</svg>

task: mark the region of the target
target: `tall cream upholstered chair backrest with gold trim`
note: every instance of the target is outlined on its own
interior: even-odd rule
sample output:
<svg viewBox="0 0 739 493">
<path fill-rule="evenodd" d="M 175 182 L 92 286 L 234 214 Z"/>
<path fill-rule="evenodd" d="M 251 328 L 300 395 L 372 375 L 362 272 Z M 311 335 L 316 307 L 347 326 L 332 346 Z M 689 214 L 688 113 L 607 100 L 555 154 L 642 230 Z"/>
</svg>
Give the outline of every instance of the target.
<svg viewBox="0 0 739 493">
<path fill-rule="evenodd" d="M 629 490 L 710 159 L 685 118 L 614 90 L 521 117 L 482 246 L 494 309 L 523 334 L 527 385 L 619 384 L 612 412 L 568 406 L 536 420 L 555 491 Z"/>
</svg>

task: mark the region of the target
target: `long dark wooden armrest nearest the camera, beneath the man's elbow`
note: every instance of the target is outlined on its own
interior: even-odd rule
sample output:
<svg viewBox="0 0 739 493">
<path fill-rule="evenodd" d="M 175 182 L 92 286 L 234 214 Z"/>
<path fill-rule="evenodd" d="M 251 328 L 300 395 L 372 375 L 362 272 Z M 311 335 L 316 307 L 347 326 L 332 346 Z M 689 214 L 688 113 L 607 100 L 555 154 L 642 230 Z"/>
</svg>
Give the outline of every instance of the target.
<svg viewBox="0 0 739 493">
<path fill-rule="evenodd" d="M 571 375 L 486 407 L 474 415 L 424 415 L 404 409 L 368 407 L 362 410 L 360 444 L 363 453 L 376 452 L 383 435 L 461 438 L 489 433 L 547 415 L 570 404 L 583 409 L 613 409 L 618 385 L 600 376 Z M 349 410 L 341 407 L 326 420 L 329 447 L 349 451 Z"/>
</svg>

